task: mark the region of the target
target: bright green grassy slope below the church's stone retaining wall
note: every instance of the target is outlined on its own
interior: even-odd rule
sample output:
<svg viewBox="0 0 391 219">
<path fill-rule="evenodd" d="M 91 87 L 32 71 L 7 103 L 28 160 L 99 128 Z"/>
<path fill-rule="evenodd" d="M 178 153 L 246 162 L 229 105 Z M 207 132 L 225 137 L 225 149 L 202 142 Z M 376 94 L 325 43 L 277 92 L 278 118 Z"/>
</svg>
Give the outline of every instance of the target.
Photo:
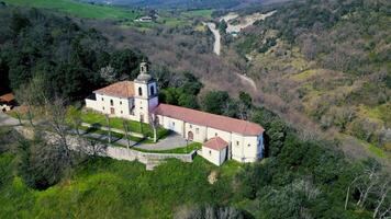
<svg viewBox="0 0 391 219">
<path fill-rule="evenodd" d="M 171 218 L 181 205 L 226 203 L 227 180 L 241 168 L 215 168 L 197 158 L 193 163 L 170 160 L 148 172 L 137 162 L 97 159 L 79 166 L 72 180 L 40 192 L 12 176 L 12 160 L 0 154 L 5 178 L 0 184 L 0 218 L 156 218 L 157 212 Z M 222 175 L 214 185 L 206 181 L 212 170 Z"/>
</svg>

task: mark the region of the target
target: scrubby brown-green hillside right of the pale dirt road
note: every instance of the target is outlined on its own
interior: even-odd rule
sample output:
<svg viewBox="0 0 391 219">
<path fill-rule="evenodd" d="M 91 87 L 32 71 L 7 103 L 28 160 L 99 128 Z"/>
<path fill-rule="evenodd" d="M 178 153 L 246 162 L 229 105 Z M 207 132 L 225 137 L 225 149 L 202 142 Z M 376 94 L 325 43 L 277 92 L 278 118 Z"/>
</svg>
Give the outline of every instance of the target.
<svg viewBox="0 0 391 219">
<path fill-rule="evenodd" d="M 265 106 L 293 124 L 310 118 L 370 150 L 390 150 L 390 7 L 383 0 L 289 3 L 230 48 L 246 59 Z"/>
</svg>

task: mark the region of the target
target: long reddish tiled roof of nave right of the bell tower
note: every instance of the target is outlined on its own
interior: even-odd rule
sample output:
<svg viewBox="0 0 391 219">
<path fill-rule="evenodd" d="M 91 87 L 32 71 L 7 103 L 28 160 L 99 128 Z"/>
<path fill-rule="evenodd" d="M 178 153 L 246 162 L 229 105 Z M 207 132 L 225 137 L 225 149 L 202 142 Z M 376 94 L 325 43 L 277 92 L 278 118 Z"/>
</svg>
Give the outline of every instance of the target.
<svg viewBox="0 0 391 219">
<path fill-rule="evenodd" d="M 155 108 L 154 113 L 157 115 L 183 120 L 186 123 L 206 126 L 242 135 L 258 136 L 265 130 L 258 124 L 250 123 L 248 120 L 241 120 L 236 118 L 210 114 L 169 104 L 159 104 Z"/>
</svg>

